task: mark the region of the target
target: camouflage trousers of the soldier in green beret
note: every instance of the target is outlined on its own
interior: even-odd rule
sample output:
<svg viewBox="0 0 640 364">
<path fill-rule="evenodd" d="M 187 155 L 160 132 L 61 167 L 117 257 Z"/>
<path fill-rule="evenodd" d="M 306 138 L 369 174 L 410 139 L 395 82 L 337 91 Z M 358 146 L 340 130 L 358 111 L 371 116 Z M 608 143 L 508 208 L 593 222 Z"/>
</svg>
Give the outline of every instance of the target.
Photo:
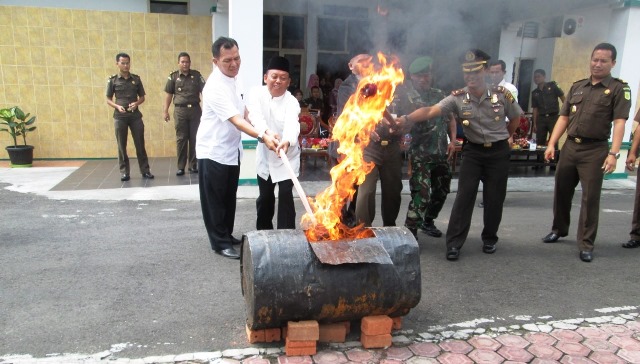
<svg viewBox="0 0 640 364">
<path fill-rule="evenodd" d="M 410 229 L 418 229 L 423 223 L 432 222 L 442 210 L 451 191 L 451 168 L 447 162 L 431 163 L 411 158 L 411 170 L 411 201 L 404 224 Z"/>
</svg>

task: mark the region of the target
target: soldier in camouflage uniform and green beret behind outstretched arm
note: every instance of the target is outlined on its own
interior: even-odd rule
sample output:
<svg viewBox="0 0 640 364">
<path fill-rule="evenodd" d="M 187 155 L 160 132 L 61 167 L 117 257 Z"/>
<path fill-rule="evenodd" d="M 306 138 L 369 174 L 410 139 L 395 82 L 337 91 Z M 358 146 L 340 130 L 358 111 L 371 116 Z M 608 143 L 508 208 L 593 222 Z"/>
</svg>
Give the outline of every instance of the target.
<svg viewBox="0 0 640 364">
<path fill-rule="evenodd" d="M 396 112 L 410 114 L 423 106 L 437 104 L 445 94 L 431 87 L 431 57 L 416 58 L 409 66 L 411 82 L 398 88 Z M 447 140 L 447 131 L 451 142 Z M 456 122 L 450 115 L 438 116 L 411 128 L 411 201 L 405 226 L 417 236 L 418 228 L 433 237 L 442 236 L 433 220 L 438 217 L 451 185 L 448 159 L 455 153 Z"/>
</svg>

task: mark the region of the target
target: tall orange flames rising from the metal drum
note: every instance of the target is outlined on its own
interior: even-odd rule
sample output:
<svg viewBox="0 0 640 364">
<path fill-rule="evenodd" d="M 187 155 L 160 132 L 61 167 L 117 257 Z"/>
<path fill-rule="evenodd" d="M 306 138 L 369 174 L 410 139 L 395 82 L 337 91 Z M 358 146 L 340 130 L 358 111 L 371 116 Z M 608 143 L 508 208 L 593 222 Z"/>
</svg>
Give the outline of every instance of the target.
<svg viewBox="0 0 640 364">
<path fill-rule="evenodd" d="M 316 223 L 309 214 L 302 216 L 302 226 L 308 226 L 307 239 L 311 242 L 358 239 L 371 236 L 363 225 L 350 228 L 340 221 L 342 207 L 353 197 L 354 185 L 360 185 L 374 165 L 363 159 L 371 132 L 382 119 L 386 107 L 393 100 L 396 86 L 403 82 L 404 74 L 397 58 L 388 61 L 378 53 L 379 66 L 366 65 L 358 89 L 347 101 L 333 128 L 333 139 L 340 142 L 338 152 L 344 159 L 331 168 L 331 185 L 314 199 L 309 199 Z M 372 87 L 372 85 L 374 87 Z M 364 89 L 364 91 L 363 91 Z M 371 95 L 372 90 L 375 91 Z"/>
</svg>

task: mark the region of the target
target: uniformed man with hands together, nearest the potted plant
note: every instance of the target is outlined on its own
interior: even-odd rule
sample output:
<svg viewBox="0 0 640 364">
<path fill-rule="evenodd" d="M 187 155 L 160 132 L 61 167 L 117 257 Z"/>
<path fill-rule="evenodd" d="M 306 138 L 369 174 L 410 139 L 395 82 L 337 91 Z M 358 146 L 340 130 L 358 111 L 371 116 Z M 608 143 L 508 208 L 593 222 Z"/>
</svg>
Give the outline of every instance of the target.
<svg viewBox="0 0 640 364">
<path fill-rule="evenodd" d="M 149 170 L 149 159 L 144 147 L 144 123 L 142 113 L 138 109 L 144 102 L 144 86 L 140 76 L 129 72 L 131 57 L 126 53 L 116 55 L 116 65 L 120 72 L 112 75 L 107 80 L 107 104 L 113 107 L 116 141 L 118 143 L 118 164 L 120 166 L 120 180 L 130 179 L 129 156 L 127 155 L 127 138 L 129 129 L 136 147 L 138 166 L 143 178 L 151 179 L 153 175 Z M 115 95 L 115 101 L 113 96 Z"/>
</svg>

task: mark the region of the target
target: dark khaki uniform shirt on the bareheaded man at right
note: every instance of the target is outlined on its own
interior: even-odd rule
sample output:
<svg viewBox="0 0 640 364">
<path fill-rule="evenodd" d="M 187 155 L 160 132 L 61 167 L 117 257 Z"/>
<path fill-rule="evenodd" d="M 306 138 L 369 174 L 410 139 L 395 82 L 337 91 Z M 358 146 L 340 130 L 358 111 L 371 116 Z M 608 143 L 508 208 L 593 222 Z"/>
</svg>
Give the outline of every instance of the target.
<svg viewBox="0 0 640 364">
<path fill-rule="evenodd" d="M 595 85 L 590 78 L 576 81 L 560 115 L 569 117 L 568 135 L 607 140 L 613 120 L 628 119 L 630 109 L 629 85 L 609 75 Z"/>
</svg>

